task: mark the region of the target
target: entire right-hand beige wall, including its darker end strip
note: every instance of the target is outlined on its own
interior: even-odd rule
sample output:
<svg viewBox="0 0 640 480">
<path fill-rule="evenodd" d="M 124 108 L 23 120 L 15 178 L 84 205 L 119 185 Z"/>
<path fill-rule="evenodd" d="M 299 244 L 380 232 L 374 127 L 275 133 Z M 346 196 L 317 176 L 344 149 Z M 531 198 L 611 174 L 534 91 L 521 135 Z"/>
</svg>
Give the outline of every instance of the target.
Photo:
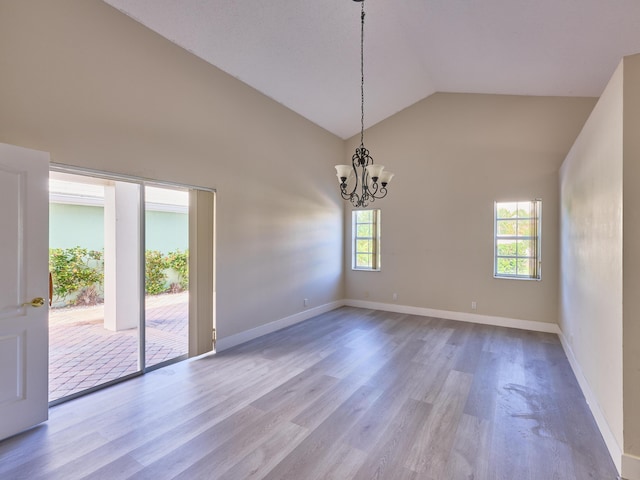
<svg viewBox="0 0 640 480">
<path fill-rule="evenodd" d="M 560 327 L 625 478 L 640 478 L 639 84 L 625 57 L 560 171 Z"/>
</svg>

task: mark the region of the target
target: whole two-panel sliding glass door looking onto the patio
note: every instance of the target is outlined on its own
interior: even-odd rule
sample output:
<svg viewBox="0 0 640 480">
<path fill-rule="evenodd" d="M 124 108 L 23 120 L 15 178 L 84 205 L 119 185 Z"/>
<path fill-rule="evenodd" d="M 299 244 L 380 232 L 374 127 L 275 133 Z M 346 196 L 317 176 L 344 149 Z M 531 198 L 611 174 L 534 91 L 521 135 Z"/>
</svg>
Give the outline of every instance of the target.
<svg viewBox="0 0 640 480">
<path fill-rule="evenodd" d="M 49 401 L 186 358 L 189 189 L 50 172 Z"/>
</svg>

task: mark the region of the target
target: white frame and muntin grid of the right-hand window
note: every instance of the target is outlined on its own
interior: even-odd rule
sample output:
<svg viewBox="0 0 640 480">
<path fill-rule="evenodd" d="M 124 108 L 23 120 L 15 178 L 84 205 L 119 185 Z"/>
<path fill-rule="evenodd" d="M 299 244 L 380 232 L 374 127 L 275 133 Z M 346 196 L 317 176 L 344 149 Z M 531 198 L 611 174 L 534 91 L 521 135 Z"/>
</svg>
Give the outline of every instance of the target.
<svg viewBox="0 0 640 480">
<path fill-rule="evenodd" d="M 498 209 L 501 204 L 529 204 L 529 211 L 532 212 L 529 217 L 519 217 L 517 212 L 519 211 L 519 207 L 516 207 L 516 216 L 515 217 L 498 217 Z M 516 220 L 516 231 L 514 235 L 500 235 L 498 234 L 498 222 L 505 220 Z M 518 222 L 520 220 L 535 222 L 535 234 L 534 235 L 519 235 L 518 233 Z M 517 242 L 519 240 L 531 241 L 534 242 L 534 253 L 533 255 L 519 255 L 516 247 L 515 255 L 499 255 L 498 254 L 498 245 L 499 240 L 511 240 Z M 498 272 L 498 261 L 504 258 L 513 258 L 516 260 L 516 273 L 508 274 L 508 273 L 500 273 Z M 518 260 L 527 259 L 530 262 L 535 262 L 533 271 L 531 272 L 531 268 L 526 275 L 518 274 L 517 265 Z M 511 280 L 542 280 L 542 199 L 536 198 L 535 200 L 515 200 L 515 201 L 502 201 L 502 202 L 494 202 L 493 207 L 493 277 L 498 279 L 511 279 Z"/>
</svg>

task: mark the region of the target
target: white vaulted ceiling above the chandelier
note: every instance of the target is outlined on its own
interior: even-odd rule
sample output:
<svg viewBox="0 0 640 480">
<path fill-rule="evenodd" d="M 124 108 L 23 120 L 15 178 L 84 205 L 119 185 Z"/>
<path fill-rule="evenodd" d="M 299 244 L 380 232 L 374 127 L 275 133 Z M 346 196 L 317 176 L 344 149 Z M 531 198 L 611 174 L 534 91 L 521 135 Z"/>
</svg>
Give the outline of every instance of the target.
<svg viewBox="0 0 640 480">
<path fill-rule="evenodd" d="M 104 0 L 312 122 L 360 131 L 352 0 Z M 368 0 L 365 127 L 434 92 L 599 96 L 640 0 Z"/>
</svg>

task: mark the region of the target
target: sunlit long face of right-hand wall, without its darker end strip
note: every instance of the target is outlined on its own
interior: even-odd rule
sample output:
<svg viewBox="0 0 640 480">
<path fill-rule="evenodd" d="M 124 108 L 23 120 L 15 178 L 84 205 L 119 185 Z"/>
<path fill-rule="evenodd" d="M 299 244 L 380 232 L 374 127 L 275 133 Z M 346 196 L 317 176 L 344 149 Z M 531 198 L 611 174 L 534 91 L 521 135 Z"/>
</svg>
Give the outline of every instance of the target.
<svg viewBox="0 0 640 480">
<path fill-rule="evenodd" d="M 560 328 L 623 445 L 622 117 L 616 70 L 560 170 Z"/>
</svg>

